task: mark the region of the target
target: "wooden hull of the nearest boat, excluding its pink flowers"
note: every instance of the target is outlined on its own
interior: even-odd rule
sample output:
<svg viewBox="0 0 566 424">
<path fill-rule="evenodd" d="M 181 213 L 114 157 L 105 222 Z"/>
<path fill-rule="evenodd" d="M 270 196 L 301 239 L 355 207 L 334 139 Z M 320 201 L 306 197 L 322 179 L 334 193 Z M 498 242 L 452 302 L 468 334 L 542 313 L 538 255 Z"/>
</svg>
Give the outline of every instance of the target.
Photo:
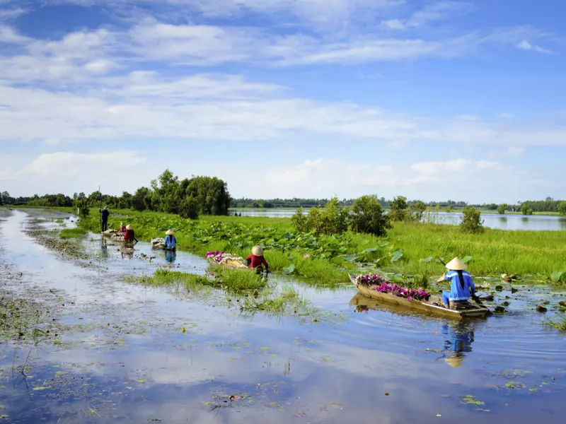
<svg viewBox="0 0 566 424">
<path fill-rule="evenodd" d="M 365 295 L 369 298 L 378 300 L 383 304 L 388 304 L 391 306 L 402 307 L 403 309 L 409 309 L 413 312 L 420 312 L 422 314 L 432 315 L 435 317 L 443 317 L 450 319 L 466 319 L 466 318 L 480 318 L 485 317 L 489 310 L 487 307 L 480 305 L 473 305 L 472 303 L 466 304 L 466 309 L 452 310 L 446 309 L 446 307 L 434 305 L 429 302 L 422 302 L 420 300 L 409 300 L 405 298 L 400 298 L 399 296 L 390 295 L 388 293 L 380 293 L 377 290 L 371 290 L 371 288 L 365 287 L 357 282 L 357 276 L 353 273 L 350 274 L 350 281 L 356 286 L 359 293 Z"/>
</svg>

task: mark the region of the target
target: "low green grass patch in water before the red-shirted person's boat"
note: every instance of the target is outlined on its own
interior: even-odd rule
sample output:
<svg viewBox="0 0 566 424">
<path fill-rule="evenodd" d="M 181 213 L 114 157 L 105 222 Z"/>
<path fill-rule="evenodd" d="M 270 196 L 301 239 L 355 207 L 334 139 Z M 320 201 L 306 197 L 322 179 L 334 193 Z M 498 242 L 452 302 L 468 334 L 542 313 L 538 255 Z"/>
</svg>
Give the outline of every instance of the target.
<svg viewBox="0 0 566 424">
<path fill-rule="evenodd" d="M 267 285 L 267 281 L 261 276 L 246 269 L 218 269 L 216 270 L 216 275 L 212 278 L 193 273 L 158 269 L 155 271 L 154 276 L 138 278 L 137 282 L 158 287 L 176 285 L 177 287 L 185 287 L 187 290 L 196 290 L 198 286 L 204 285 L 214 288 L 226 288 L 234 292 L 257 290 L 265 288 Z"/>
</svg>

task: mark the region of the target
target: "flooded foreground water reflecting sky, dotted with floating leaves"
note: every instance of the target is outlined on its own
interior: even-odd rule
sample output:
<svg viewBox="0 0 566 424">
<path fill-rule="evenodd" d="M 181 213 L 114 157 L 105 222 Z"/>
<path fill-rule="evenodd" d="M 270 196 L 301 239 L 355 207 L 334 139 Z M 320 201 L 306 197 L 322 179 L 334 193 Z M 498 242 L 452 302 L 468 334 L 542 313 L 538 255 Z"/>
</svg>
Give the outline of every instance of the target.
<svg viewBox="0 0 566 424">
<path fill-rule="evenodd" d="M 123 280 L 204 273 L 199 257 L 146 243 L 125 254 L 91 235 L 89 259 L 69 260 L 21 232 L 26 213 L 0 219 L 1 297 L 40 302 L 37 326 L 52 329 L 0 339 L 0 423 L 564 421 L 566 340 L 533 310 L 550 298 L 558 314 L 562 293 L 503 291 L 509 314 L 454 324 L 291 281 L 335 319 L 243 318 L 214 293 Z"/>
</svg>

